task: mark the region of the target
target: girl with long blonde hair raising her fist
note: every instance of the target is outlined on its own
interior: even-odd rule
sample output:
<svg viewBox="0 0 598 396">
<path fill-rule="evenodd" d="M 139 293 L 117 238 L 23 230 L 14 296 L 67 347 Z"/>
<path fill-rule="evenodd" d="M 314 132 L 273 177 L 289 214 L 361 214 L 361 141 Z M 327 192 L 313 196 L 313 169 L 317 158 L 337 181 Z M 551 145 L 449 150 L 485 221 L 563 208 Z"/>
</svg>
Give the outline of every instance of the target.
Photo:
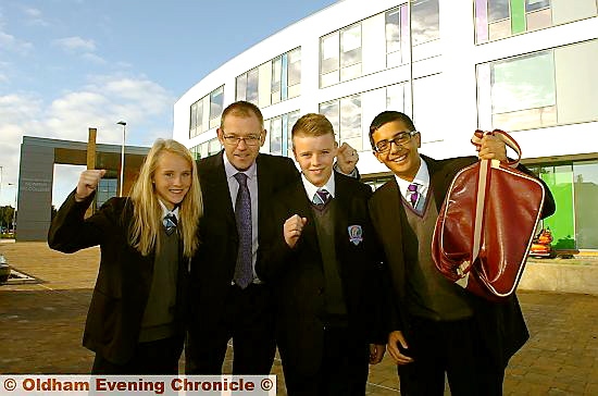
<svg viewBox="0 0 598 396">
<path fill-rule="evenodd" d="M 104 170 L 80 174 L 52 220 L 48 244 L 62 252 L 100 246 L 83 345 L 92 374 L 177 374 L 188 302 L 188 267 L 198 245 L 202 197 L 191 153 L 158 139 L 130 196 L 109 199 L 90 218 Z"/>
</svg>

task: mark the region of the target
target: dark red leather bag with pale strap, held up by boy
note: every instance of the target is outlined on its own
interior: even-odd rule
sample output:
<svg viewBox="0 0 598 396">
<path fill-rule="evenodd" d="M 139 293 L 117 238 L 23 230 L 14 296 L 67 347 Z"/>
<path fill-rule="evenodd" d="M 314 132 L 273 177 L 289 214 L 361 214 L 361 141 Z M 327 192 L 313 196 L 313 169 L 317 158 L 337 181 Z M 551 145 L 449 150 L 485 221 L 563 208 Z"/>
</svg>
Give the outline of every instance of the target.
<svg viewBox="0 0 598 396">
<path fill-rule="evenodd" d="M 481 160 L 452 180 L 432 242 L 436 268 L 451 282 L 493 301 L 511 295 L 521 279 L 545 190 L 515 169 L 521 149 L 507 133 L 491 133 L 516 153 L 508 163 Z M 484 133 L 472 143 L 479 146 Z"/>
</svg>

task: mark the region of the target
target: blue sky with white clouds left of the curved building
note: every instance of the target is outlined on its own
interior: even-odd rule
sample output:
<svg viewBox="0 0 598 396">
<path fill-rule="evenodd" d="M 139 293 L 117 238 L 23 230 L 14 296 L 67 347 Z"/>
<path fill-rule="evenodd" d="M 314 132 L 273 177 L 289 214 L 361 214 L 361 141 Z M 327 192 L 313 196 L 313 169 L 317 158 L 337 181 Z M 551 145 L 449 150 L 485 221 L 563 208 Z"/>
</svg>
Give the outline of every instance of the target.
<svg viewBox="0 0 598 396">
<path fill-rule="evenodd" d="M 333 0 L 1 0 L 0 206 L 14 207 L 23 135 L 151 146 L 213 70 Z M 82 166 L 55 165 L 52 203 Z"/>
</svg>

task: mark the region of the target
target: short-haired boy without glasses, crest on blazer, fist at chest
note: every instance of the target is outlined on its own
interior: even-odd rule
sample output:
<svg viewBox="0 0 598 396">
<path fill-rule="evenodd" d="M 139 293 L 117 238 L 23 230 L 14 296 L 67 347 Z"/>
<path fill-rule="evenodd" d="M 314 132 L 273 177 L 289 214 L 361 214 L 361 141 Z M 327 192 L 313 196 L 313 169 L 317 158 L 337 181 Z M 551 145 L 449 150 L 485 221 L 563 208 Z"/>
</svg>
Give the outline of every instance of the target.
<svg viewBox="0 0 598 396">
<path fill-rule="evenodd" d="M 278 230 L 257 267 L 275 285 L 276 341 L 291 396 L 364 395 L 367 363 L 385 351 L 372 190 L 333 172 L 337 146 L 324 115 L 294 125 L 301 180 L 276 195 Z"/>
</svg>

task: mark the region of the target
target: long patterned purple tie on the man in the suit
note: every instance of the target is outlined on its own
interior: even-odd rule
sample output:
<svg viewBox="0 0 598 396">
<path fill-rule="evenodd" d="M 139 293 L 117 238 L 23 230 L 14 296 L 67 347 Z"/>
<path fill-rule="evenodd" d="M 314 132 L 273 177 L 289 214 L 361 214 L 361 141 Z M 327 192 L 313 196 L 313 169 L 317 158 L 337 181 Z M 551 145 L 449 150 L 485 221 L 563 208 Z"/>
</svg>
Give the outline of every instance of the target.
<svg viewBox="0 0 598 396">
<path fill-rule="evenodd" d="M 235 178 L 239 183 L 239 191 L 237 193 L 237 200 L 235 202 L 239 248 L 233 280 L 240 288 L 246 288 L 253 282 L 253 265 L 251 263 L 251 196 L 247 187 L 247 175 L 239 172 L 235 175 Z"/>
</svg>

